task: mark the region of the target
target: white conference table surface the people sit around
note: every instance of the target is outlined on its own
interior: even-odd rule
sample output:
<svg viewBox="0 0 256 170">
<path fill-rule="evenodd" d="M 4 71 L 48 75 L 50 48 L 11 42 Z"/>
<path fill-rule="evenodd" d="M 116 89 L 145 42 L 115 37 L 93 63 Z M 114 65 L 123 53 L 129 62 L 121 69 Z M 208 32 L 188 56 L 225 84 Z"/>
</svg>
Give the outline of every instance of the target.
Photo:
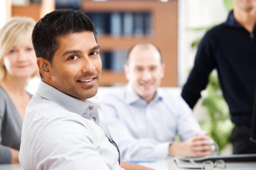
<svg viewBox="0 0 256 170">
<path fill-rule="evenodd" d="M 155 170 L 189 170 L 189 169 L 177 167 L 176 163 L 172 158 L 161 159 L 161 160 L 152 161 L 152 162 L 140 162 L 138 164 L 155 169 Z M 20 164 L 2 164 L 0 165 L 0 170 L 23 170 L 23 168 L 21 167 Z M 215 168 L 213 170 L 220 170 L 220 169 Z M 227 163 L 227 168 L 225 170 L 256 170 L 256 162 Z"/>
</svg>

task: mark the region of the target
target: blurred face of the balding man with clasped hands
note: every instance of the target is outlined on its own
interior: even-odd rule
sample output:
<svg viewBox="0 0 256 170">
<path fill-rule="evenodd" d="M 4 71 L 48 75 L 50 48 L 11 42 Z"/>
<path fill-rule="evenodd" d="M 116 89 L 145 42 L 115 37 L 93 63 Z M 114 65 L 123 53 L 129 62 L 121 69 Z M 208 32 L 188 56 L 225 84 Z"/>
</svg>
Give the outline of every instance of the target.
<svg viewBox="0 0 256 170">
<path fill-rule="evenodd" d="M 153 46 L 148 48 L 134 47 L 130 53 L 128 65 L 125 65 L 126 78 L 136 93 L 150 102 L 164 76 L 164 64 L 160 54 Z"/>
</svg>

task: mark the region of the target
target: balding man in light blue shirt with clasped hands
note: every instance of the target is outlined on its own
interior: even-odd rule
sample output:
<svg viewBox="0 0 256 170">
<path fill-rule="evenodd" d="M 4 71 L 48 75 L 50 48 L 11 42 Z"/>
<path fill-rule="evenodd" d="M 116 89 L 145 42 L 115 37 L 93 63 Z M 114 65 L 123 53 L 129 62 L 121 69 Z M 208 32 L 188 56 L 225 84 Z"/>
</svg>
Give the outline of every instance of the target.
<svg viewBox="0 0 256 170">
<path fill-rule="evenodd" d="M 124 66 L 128 85 L 102 96 L 106 122 L 122 159 L 194 157 L 215 151 L 213 140 L 201 130 L 181 96 L 159 88 L 164 67 L 155 45 L 137 44 L 129 50 Z M 182 142 L 173 143 L 177 134 Z"/>
</svg>

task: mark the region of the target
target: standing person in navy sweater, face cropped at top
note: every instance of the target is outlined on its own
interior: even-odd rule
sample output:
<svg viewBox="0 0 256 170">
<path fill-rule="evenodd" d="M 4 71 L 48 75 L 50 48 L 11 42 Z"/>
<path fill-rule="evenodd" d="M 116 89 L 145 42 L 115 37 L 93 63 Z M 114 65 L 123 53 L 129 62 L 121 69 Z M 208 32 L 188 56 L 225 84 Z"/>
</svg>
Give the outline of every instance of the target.
<svg viewBox="0 0 256 170">
<path fill-rule="evenodd" d="M 256 153 L 250 141 L 253 95 L 256 83 L 256 1 L 233 0 L 225 23 L 209 30 L 199 44 L 182 97 L 193 108 L 216 68 L 231 121 L 234 154 Z"/>
</svg>

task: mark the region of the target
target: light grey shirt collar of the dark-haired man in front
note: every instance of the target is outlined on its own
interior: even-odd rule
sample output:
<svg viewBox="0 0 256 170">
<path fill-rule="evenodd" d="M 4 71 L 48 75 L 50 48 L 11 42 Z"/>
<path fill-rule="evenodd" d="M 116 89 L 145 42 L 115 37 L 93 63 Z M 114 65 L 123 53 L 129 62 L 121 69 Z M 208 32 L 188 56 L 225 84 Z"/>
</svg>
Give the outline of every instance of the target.
<svg viewBox="0 0 256 170">
<path fill-rule="evenodd" d="M 60 106 L 64 107 L 70 112 L 79 114 L 80 116 L 83 115 L 83 113 L 85 112 L 85 110 L 89 105 L 88 101 L 83 102 L 74 97 L 71 97 L 55 89 L 54 87 L 46 84 L 43 81 L 39 83 L 36 93 L 47 100 L 50 100 L 59 104 Z"/>
</svg>

